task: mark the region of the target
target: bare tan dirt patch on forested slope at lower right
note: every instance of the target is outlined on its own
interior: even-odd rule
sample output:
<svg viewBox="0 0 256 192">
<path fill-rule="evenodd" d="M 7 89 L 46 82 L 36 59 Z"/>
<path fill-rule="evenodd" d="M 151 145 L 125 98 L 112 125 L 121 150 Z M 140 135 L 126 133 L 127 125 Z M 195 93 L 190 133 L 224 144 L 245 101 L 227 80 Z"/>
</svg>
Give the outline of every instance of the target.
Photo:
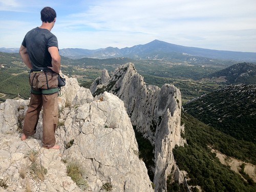
<svg viewBox="0 0 256 192">
<path fill-rule="evenodd" d="M 228 157 L 216 150 L 212 150 L 212 152 L 216 153 L 216 156 L 220 159 L 220 162 L 222 164 L 230 166 L 230 168 L 238 174 L 239 174 L 239 170 L 241 170 L 240 166 L 244 163 L 245 164 L 244 172 L 248 174 L 254 182 L 256 182 L 256 166 L 255 165 L 234 159 L 232 157 Z"/>
</svg>

